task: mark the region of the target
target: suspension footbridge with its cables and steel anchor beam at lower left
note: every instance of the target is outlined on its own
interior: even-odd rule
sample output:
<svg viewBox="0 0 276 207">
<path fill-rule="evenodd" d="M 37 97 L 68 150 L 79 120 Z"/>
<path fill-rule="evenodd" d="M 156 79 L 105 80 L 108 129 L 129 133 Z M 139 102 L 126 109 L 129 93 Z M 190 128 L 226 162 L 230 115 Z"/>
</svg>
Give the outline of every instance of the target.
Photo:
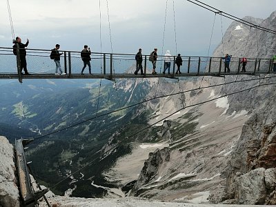
<svg viewBox="0 0 276 207">
<path fill-rule="evenodd" d="M 190 1 L 190 0 L 187 0 L 187 1 Z M 244 21 L 242 19 L 236 18 L 225 12 L 221 12 L 220 10 L 210 7 L 205 3 L 201 3 L 200 1 L 197 1 L 197 0 L 195 1 L 197 3 L 193 1 L 190 1 L 190 2 L 195 3 L 198 6 L 201 6 L 203 8 L 206 8 L 211 12 L 214 12 L 215 15 L 220 14 L 221 16 L 244 23 L 246 26 L 250 27 L 250 30 L 251 28 L 256 28 L 259 30 L 263 30 L 265 32 L 276 34 L 274 30 L 269 30 L 266 28 L 262 28 L 260 26 L 256 26 L 252 23 L 249 23 L 248 21 Z M 166 2 L 166 6 L 167 6 L 167 2 Z M 7 0 L 7 4 L 8 4 L 9 18 L 10 18 L 10 26 L 12 30 L 12 37 L 14 39 L 15 37 L 14 37 L 14 29 L 13 29 L 13 23 L 12 23 L 12 15 L 10 12 L 10 5 L 8 0 Z M 108 14 L 108 22 L 110 24 L 109 14 Z M 174 10 L 174 23 L 175 23 L 175 10 Z M 214 20 L 214 24 L 215 24 L 215 20 Z M 213 28 L 214 28 L 214 24 L 213 24 Z M 164 32 L 165 32 L 165 27 L 166 27 L 166 15 L 165 15 L 165 23 L 164 23 Z M 222 27 L 222 21 L 221 21 L 221 27 Z M 221 30 L 221 33 L 222 33 L 222 30 Z M 213 30 L 212 30 L 212 34 L 213 34 Z M 210 41 L 212 39 L 212 34 L 210 37 Z M 24 74 L 22 75 L 20 70 L 18 70 L 19 65 L 17 60 L 19 55 L 14 56 L 12 51 L 13 48 L 0 47 L 0 79 L 19 79 L 19 82 L 22 82 L 23 79 L 116 80 L 116 79 L 136 79 L 136 78 L 139 78 L 139 79 L 162 78 L 162 77 L 179 79 L 179 77 L 205 77 L 205 76 L 225 77 L 227 75 L 260 75 L 260 74 L 275 73 L 275 71 L 273 71 L 273 59 L 265 59 L 265 58 L 259 58 L 259 57 L 247 57 L 248 63 L 246 65 L 246 72 L 242 72 L 242 63 L 241 63 L 242 57 L 233 57 L 230 61 L 230 72 L 227 72 L 226 68 L 224 67 L 224 60 L 221 57 L 208 56 L 209 50 L 210 50 L 210 45 L 209 45 L 207 57 L 188 57 L 188 56 L 181 57 L 183 60 L 183 63 L 180 69 L 181 74 L 176 74 L 175 56 L 172 56 L 173 60 L 170 68 L 170 73 L 168 73 L 167 71 L 167 73 L 163 74 L 165 57 L 159 55 L 157 59 L 157 68 L 160 68 L 160 69 L 159 71 L 157 70 L 157 75 L 152 75 L 152 72 L 151 72 L 152 63 L 148 60 L 149 55 L 143 55 L 143 75 L 141 74 L 135 75 L 134 71 L 137 67 L 136 61 L 135 61 L 135 54 L 113 53 L 111 39 L 112 38 L 111 38 L 111 31 L 110 31 L 110 43 L 111 43 L 110 53 L 92 52 L 91 54 L 92 75 L 88 75 L 88 71 L 87 71 L 88 69 L 84 71 L 84 75 L 81 75 L 81 68 L 83 67 L 83 62 L 81 60 L 81 54 L 80 54 L 81 52 L 77 52 L 77 51 L 60 51 L 60 52 L 63 52 L 63 56 L 61 56 L 61 67 L 64 73 L 66 74 L 55 75 L 55 62 L 50 59 L 51 50 L 41 50 L 41 49 L 26 49 L 28 71 L 30 75 L 24 75 Z M 222 43 L 223 43 L 223 39 L 222 39 Z M 247 45 L 247 42 L 246 42 L 246 45 Z M 163 46 L 164 46 L 164 38 L 163 38 L 162 50 L 163 50 Z M 175 30 L 175 50 L 177 51 L 176 30 Z M 244 50 L 246 50 L 246 47 L 244 48 Z M 224 52 L 222 51 L 222 53 Z M 162 51 L 162 54 L 163 54 L 163 51 Z M 265 86 L 265 84 L 263 86 Z M 246 90 L 250 90 L 250 89 L 251 88 Z M 231 94 L 228 94 L 228 95 L 231 95 Z M 199 104 L 202 104 L 202 103 L 199 103 Z M 188 108 L 188 107 L 189 106 L 184 106 L 184 108 Z M 182 109 L 183 108 L 181 108 L 181 110 Z M 24 140 L 24 139 L 19 139 L 15 142 L 16 155 L 17 155 L 17 171 L 19 174 L 19 183 L 21 186 L 21 196 L 23 199 L 23 205 L 37 206 L 37 200 L 40 197 L 44 197 L 44 199 L 46 199 L 44 194 L 47 193 L 48 189 L 34 190 L 34 186 L 32 185 L 33 182 L 30 179 L 31 170 L 28 165 L 28 161 L 26 161 L 26 157 L 24 154 L 24 150 L 26 150 L 26 144 L 28 144 L 29 142 L 30 140 Z M 72 175 L 74 173 L 75 172 L 73 172 Z M 68 177 L 70 177 L 70 175 Z M 66 177 L 66 179 L 68 177 Z M 64 180 L 65 179 L 63 179 L 62 181 Z M 47 202 L 47 199 L 46 199 L 46 202 Z M 48 206 L 50 206 L 50 204 L 48 204 Z"/>
</svg>

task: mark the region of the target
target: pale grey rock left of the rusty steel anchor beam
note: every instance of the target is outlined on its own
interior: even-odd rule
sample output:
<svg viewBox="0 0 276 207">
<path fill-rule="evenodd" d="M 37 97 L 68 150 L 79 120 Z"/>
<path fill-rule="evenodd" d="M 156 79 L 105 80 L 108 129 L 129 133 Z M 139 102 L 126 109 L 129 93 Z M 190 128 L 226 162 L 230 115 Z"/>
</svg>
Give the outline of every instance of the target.
<svg viewBox="0 0 276 207">
<path fill-rule="evenodd" d="M 19 206 L 19 190 L 14 176 L 14 150 L 6 137 L 0 136 L 0 206 Z"/>
</svg>

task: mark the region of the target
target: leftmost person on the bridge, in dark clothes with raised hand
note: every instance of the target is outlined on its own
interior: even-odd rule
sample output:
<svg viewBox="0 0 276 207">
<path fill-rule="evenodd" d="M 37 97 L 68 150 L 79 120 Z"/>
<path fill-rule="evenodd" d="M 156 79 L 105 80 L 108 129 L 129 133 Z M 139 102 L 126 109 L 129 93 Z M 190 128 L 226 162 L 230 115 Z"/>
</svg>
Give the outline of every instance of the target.
<svg viewBox="0 0 276 207">
<path fill-rule="evenodd" d="M 19 48 L 21 74 L 22 74 L 22 70 L 24 70 L 25 75 L 30 75 L 27 70 L 27 61 L 26 61 L 27 52 L 25 49 L 25 47 L 27 47 L 29 44 L 29 40 L 27 39 L 27 42 L 25 44 L 23 44 L 23 43 L 21 43 L 21 38 L 17 37 L 13 43 L 14 43 L 14 46 L 12 46 L 12 48 L 13 48 L 14 55 L 17 55 L 17 48 Z"/>
</svg>

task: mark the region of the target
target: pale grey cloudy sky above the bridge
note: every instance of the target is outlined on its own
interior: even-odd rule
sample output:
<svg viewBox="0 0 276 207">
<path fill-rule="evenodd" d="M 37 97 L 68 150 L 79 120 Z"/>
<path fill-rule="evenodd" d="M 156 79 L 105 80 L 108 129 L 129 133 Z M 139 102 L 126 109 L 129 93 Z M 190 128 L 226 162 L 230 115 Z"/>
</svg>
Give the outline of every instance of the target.
<svg viewBox="0 0 276 207">
<path fill-rule="evenodd" d="M 201 1 L 239 18 L 252 16 L 266 19 L 276 10 L 275 0 Z M 28 48 L 41 49 L 51 49 L 59 43 L 61 50 L 79 51 L 84 44 L 88 44 L 93 52 L 112 50 L 117 53 L 136 54 L 138 48 L 142 48 L 143 53 L 148 54 L 156 47 L 159 49 L 159 55 L 162 48 L 164 52 L 170 50 L 172 55 L 179 52 L 186 56 L 207 55 L 215 17 L 213 12 L 186 0 L 9 2 L 15 36 L 21 37 L 23 41 L 30 39 Z M 223 31 L 231 22 L 222 17 Z M 6 0 L 0 1 L 0 28 L 0 47 L 12 46 Z M 217 15 L 211 50 L 221 41 L 221 35 L 221 19 Z"/>
</svg>

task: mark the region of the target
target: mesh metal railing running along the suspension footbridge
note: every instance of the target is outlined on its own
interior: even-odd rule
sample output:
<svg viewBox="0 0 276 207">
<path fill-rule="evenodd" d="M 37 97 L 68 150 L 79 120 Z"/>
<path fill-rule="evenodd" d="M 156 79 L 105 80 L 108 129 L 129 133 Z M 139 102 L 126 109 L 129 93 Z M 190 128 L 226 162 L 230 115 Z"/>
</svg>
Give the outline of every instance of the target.
<svg viewBox="0 0 276 207">
<path fill-rule="evenodd" d="M 13 48 L 0 48 L 0 78 L 17 77 L 17 56 L 12 52 Z M 23 78 L 83 78 L 88 77 L 88 66 L 84 70 L 86 75 L 81 76 L 83 61 L 81 52 L 65 51 L 61 55 L 61 68 L 66 75 L 55 76 L 55 62 L 50 59 L 51 50 L 27 49 L 27 68 L 31 76 Z M 113 79 L 115 77 L 135 77 L 133 72 L 136 69 L 135 54 L 115 54 L 115 53 L 91 53 L 92 74 L 90 78 Z M 148 60 L 149 55 L 143 55 L 144 77 L 156 77 L 151 74 L 152 63 Z M 164 56 L 158 56 L 157 68 L 158 76 L 164 76 Z M 172 57 L 175 60 L 175 56 Z M 233 57 L 230 61 L 230 72 L 224 68 L 224 60 L 221 57 L 186 57 L 181 56 L 183 63 L 181 66 L 181 75 L 175 75 L 177 66 L 174 61 L 171 62 L 170 75 L 175 76 L 210 76 L 210 75 L 235 75 L 242 72 L 241 58 Z M 146 61 L 145 61 L 146 60 Z M 255 75 L 259 73 L 273 72 L 272 59 L 247 58 L 246 73 Z M 168 71 L 166 71 L 168 73 Z M 138 75 L 137 77 L 141 77 Z"/>
</svg>

